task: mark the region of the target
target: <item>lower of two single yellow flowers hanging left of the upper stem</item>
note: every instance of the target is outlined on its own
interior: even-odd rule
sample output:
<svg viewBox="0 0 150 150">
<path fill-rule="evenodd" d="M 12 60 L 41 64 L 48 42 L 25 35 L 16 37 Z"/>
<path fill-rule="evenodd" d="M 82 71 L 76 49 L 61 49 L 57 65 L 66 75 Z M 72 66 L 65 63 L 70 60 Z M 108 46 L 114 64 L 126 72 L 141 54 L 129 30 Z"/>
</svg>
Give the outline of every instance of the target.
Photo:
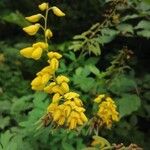
<svg viewBox="0 0 150 150">
<path fill-rule="evenodd" d="M 40 28 L 40 24 L 36 23 L 34 25 L 30 25 L 28 27 L 23 28 L 23 30 L 29 35 L 35 35 Z"/>
</svg>

